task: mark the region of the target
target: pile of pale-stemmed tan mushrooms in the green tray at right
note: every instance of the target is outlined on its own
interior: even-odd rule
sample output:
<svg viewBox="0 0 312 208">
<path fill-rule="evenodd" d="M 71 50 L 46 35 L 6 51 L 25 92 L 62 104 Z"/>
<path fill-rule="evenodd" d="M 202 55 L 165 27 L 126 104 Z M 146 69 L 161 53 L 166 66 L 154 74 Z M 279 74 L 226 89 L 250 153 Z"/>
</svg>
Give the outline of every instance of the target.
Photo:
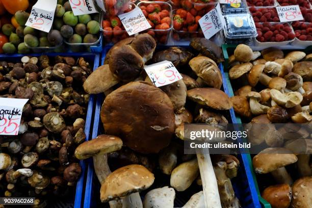
<svg viewBox="0 0 312 208">
<path fill-rule="evenodd" d="M 311 206 L 311 57 L 273 47 L 260 53 L 244 44 L 229 57 L 228 74 L 236 89 L 230 98 L 233 108 L 250 122 L 249 142 L 266 147 L 252 162 L 256 173 L 274 178 L 269 185 L 260 184 L 272 207 Z"/>
</svg>

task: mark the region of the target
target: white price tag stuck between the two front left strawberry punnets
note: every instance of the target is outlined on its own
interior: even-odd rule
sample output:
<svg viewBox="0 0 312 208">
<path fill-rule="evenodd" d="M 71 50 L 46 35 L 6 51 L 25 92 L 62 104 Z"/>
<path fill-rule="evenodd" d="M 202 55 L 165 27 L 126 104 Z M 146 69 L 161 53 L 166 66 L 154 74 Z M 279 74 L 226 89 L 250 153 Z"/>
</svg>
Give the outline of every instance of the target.
<svg viewBox="0 0 312 208">
<path fill-rule="evenodd" d="M 136 7 L 130 12 L 118 15 L 118 17 L 128 35 L 133 35 L 151 28 L 151 25 L 148 23 L 139 7 Z"/>
</svg>

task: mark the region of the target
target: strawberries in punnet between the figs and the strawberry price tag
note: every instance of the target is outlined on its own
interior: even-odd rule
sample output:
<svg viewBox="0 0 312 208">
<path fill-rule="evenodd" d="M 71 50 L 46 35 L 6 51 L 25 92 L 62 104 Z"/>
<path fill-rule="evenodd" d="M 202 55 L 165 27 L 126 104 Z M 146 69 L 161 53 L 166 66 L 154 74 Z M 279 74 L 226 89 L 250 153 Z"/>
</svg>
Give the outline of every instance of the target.
<svg viewBox="0 0 312 208">
<path fill-rule="evenodd" d="M 128 38 L 119 17 L 111 17 L 102 21 L 103 35 L 105 41 L 116 43 L 122 39 Z"/>
</svg>

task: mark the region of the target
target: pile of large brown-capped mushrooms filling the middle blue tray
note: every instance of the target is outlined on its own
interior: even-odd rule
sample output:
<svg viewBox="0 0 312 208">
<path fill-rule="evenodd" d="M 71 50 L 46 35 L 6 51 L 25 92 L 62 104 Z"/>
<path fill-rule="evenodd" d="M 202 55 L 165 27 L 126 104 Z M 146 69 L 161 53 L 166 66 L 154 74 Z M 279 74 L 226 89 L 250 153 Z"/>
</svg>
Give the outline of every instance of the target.
<svg viewBox="0 0 312 208">
<path fill-rule="evenodd" d="M 153 53 L 152 40 L 144 34 L 116 43 L 105 65 L 86 80 L 87 92 L 106 95 L 100 112 L 105 134 L 77 147 L 75 157 L 93 157 L 100 200 L 110 207 L 173 208 L 175 192 L 191 186 L 202 186 L 203 191 L 194 193 L 185 208 L 240 207 L 230 181 L 237 174 L 238 159 L 206 151 L 197 151 L 196 157 L 183 149 L 185 123 L 228 123 L 222 114 L 232 102 L 220 90 L 216 63 L 222 61 L 221 49 L 196 38 L 191 45 L 198 56 L 180 47 Z M 175 65 L 183 80 L 157 88 L 143 68 L 164 60 Z M 155 188 L 155 177 L 164 175 L 170 181 Z M 142 202 L 139 192 L 146 189 Z"/>
</svg>

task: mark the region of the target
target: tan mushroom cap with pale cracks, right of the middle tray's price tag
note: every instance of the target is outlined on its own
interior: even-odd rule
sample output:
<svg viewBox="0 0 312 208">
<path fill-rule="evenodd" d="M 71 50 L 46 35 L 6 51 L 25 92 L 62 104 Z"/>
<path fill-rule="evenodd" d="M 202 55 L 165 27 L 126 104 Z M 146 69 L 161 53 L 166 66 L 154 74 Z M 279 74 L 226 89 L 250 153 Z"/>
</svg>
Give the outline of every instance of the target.
<svg viewBox="0 0 312 208">
<path fill-rule="evenodd" d="M 222 86 L 222 75 L 216 62 L 208 57 L 198 56 L 189 62 L 192 70 L 209 87 L 220 89 Z"/>
</svg>

